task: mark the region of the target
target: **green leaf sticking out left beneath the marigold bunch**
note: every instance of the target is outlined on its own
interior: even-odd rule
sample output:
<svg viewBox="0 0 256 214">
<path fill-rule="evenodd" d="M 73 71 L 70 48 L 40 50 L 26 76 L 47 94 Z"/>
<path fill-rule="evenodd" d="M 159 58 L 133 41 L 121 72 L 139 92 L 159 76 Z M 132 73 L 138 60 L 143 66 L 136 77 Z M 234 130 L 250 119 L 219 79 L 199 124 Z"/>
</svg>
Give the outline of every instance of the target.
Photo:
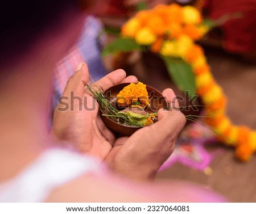
<svg viewBox="0 0 256 214">
<path fill-rule="evenodd" d="M 133 39 L 118 38 L 106 45 L 101 54 L 104 57 L 118 52 L 129 52 L 140 49 L 141 47 Z"/>
</svg>

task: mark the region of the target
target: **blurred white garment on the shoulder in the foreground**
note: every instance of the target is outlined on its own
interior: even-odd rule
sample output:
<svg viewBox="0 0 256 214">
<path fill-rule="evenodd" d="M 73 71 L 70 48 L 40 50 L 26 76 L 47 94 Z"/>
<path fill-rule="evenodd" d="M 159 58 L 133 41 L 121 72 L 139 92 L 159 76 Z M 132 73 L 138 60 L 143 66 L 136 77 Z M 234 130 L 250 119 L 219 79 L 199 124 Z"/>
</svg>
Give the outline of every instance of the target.
<svg viewBox="0 0 256 214">
<path fill-rule="evenodd" d="M 14 178 L 0 183 L 0 202 L 43 202 L 53 188 L 101 170 L 93 158 L 65 149 L 47 150 Z"/>
</svg>

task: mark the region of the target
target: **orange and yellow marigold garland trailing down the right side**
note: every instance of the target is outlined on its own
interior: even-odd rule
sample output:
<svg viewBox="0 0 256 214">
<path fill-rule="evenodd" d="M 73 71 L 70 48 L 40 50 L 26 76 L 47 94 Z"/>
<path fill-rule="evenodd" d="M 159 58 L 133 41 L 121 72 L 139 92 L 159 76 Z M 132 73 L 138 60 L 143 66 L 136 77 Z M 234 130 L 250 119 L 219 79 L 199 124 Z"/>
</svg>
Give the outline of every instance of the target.
<svg viewBox="0 0 256 214">
<path fill-rule="evenodd" d="M 199 10 L 173 3 L 139 11 L 122 27 L 121 35 L 139 45 L 150 45 L 152 52 L 179 57 L 191 65 L 197 94 L 206 106 L 205 123 L 219 133 L 219 140 L 236 147 L 240 160 L 249 161 L 256 150 L 256 131 L 233 125 L 226 116 L 226 96 L 210 72 L 203 49 L 194 43 L 208 31 Z"/>
</svg>

